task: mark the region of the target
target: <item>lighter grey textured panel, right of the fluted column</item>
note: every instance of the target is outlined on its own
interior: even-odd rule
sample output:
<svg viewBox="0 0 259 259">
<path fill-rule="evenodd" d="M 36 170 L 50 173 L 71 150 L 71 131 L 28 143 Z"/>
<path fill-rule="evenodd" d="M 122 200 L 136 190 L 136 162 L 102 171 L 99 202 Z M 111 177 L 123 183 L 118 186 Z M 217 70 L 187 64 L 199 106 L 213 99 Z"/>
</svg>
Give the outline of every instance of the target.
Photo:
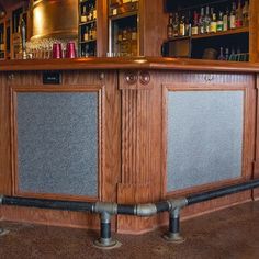
<svg viewBox="0 0 259 259">
<path fill-rule="evenodd" d="M 168 93 L 167 191 L 241 176 L 243 91 Z"/>
</svg>

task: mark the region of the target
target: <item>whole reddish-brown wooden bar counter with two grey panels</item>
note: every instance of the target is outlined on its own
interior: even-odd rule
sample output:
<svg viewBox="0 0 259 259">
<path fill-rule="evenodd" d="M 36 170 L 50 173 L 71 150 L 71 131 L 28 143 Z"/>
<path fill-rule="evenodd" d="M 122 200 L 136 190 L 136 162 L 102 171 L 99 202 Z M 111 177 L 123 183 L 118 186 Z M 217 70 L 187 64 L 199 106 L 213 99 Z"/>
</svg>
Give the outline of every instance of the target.
<svg viewBox="0 0 259 259">
<path fill-rule="evenodd" d="M 146 203 L 259 176 L 259 65 L 173 58 L 0 61 L 0 193 Z M 183 216 L 251 201 L 251 191 Z M 7 221 L 98 228 L 98 215 L 0 207 Z M 117 216 L 138 234 L 167 223 Z"/>
</svg>

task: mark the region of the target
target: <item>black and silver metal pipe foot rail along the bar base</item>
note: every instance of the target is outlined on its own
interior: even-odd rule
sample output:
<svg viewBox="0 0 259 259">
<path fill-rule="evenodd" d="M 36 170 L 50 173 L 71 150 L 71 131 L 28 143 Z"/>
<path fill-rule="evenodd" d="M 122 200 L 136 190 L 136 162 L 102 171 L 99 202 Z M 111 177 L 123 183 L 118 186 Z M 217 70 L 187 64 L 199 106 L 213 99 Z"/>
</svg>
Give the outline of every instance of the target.
<svg viewBox="0 0 259 259">
<path fill-rule="evenodd" d="M 232 187 L 221 188 L 213 191 L 188 195 L 187 198 L 171 199 L 158 203 L 123 205 L 106 202 L 72 202 L 53 201 L 44 199 L 15 198 L 0 195 L 0 205 L 29 206 L 38 209 L 66 210 L 76 212 L 98 213 L 100 215 L 100 239 L 94 246 L 102 249 L 119 247 L 121 244 L 111 236 L 111 217 L 113 215 L 135 215 L 149 217 L 161 212 L 169 212 L 169 229 L 164 236 L 166 240 L 181 243 L 180 212 L 184 206 L 209 201 L 212 199 L 234 194 L 259 187 L 259 179 L 239 183 Z"/>
</svg>

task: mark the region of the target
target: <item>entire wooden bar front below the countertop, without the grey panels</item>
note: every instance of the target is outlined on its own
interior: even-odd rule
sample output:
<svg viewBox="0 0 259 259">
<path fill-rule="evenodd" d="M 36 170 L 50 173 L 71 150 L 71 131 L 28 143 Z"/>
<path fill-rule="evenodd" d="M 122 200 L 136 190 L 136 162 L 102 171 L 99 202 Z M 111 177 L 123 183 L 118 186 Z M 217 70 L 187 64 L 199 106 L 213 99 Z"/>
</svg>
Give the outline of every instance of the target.
<svg viewBox="0 0 259 259">
<path fill-rule="evenodd" d="M 14 185 L 11 171 L 11 88 L 33 88 L 33 86 L 47 88 L 47 86 L 42 85 L 41 71 L 2 72 L 0 76 L 0 116 L 1 122 L 4 122 L 0 125 L 0 190 L 10 195 L 13 194 L 12 188 Z M 257 93 L 252 74 L 188 72 L 158 69 L 63 71 L 60 89 L 74 91 L 78 86 L 86 88 L 102 86 L 103 88 L 101 201 L 124 204 L 155 202 L 252 178 Z M 177 88 L 184 91 L 241 89 L 245 92 L 243 177 L 240 179 L 212 182 L 177 192 L 166 191 L 167 103 L 165 88 Z M 56 198 L 61 199 L 58 195 Z M 76 200 L 81 200 L 81 198 Z M 250 200 L 251 192 L 248 191 L 188 207 L 183 215 L 190 217 Z M 99 227 L 98 215 L 8 206 L 1 207 L 0 213 L 4 219 L 11 221 L 88 228 Z M 166 215 L 165 217 L 150 218 L 117 216 L 113 217 L 113 229 L 123 233 L 142 233 L 165 223 L 167 224 Z"/>
</svg>

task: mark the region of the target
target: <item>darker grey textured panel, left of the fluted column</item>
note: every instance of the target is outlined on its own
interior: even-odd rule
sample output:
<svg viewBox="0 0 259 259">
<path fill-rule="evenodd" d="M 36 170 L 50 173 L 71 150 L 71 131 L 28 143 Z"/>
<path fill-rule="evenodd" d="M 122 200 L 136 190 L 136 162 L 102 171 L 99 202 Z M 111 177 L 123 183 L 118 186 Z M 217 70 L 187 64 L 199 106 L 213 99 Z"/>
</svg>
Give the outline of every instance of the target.
<svg viewBox="0 0 259 259">
<path fill-rule="evenodd" d="M 98 93 L 18 93 L 19 190 L 98 195 Z"/>
</svg>

